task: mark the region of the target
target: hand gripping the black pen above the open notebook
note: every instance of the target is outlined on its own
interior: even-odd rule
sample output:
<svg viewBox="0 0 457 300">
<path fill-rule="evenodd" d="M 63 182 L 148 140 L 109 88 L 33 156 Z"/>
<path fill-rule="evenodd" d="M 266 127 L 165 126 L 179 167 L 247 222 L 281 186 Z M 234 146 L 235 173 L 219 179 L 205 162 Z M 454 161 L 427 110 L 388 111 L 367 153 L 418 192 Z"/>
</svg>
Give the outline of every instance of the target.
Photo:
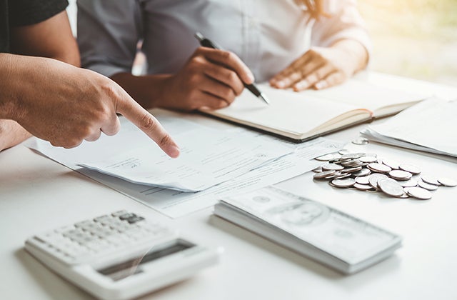
<svg viewBox="0 0 457 300">
<path fill-rule="evenodd" d="M 171 109 L 221 109 L 229 106 L 252 84 L 253 74 L 235 54 L 199 47 L 186 65 L 166 79 L 161 107 Z"/>
</svg>

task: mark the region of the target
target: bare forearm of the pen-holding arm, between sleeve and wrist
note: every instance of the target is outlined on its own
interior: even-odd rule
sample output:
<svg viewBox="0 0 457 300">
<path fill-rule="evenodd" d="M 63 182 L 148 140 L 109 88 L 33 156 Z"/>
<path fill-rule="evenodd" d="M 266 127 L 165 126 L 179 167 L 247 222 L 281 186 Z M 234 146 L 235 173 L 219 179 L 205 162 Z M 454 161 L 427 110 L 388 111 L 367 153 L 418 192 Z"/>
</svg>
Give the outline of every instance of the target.
<svg viewBox="0 0 457 300">
<path fill-rule="evenodd" d="M 167 107 L 166 83 L 171 75 L 134 76 L 130 73 L 118 73 L 111 79 L 122 86 L 130 96 L 145 109 Z"/>
</svg>

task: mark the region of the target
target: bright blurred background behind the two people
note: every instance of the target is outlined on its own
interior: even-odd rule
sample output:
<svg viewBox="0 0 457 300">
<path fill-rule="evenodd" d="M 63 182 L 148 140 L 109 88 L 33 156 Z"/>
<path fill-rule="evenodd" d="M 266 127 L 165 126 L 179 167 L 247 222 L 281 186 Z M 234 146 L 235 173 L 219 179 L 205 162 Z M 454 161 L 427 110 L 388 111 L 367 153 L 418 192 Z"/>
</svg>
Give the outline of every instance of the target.
<svg viewBox="0 0 457 300">
<path fill-rule="evenodd" d="M 76 0 L 69 1 L 76 34 Z M 358 0 L 358 6 L 373 41 L 371 70 L 457 86 L 457 0 Z"/>
</svg>

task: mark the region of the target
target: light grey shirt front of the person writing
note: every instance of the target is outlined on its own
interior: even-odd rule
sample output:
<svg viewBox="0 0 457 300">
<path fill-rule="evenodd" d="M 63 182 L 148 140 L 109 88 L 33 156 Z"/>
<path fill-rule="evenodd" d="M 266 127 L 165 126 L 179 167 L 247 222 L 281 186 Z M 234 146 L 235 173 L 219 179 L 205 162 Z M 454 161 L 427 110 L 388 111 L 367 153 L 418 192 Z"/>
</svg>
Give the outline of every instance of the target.
<svg viewBox="0 0 457 300">
<path fill-rule="evenodd" d="M 149 73 L 174 73 L 199 46 L 196 31 L 237 54 L 266 81 L 310 43 L 309 16 L 293 0 L 137 0 Z"/>
</svg>

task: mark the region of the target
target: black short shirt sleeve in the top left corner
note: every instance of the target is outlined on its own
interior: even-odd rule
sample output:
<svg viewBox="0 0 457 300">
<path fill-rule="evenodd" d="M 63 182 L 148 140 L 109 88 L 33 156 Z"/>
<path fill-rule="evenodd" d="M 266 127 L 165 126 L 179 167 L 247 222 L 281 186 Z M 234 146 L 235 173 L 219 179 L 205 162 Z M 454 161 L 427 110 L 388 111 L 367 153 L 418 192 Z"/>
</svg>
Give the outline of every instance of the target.
<svg viewBox="0 0 457 300">
<path fill-rule="evenodd" d="M 13 0 L 9 1 L 9 25 L 36 24 L 64 11 L 67 0 Z"/>
</svg>

